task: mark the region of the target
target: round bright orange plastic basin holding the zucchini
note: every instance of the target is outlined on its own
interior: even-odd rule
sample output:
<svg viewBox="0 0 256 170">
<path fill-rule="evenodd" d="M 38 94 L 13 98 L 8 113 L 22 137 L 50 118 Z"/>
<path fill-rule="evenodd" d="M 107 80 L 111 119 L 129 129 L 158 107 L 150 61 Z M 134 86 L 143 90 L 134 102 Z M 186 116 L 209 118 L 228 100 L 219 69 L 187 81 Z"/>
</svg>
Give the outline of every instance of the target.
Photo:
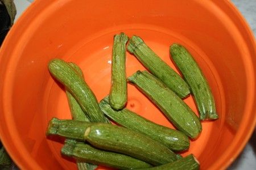
<svg viewBox="0 0 256 170">
<path fill-rule="evenodd" d="M 13 26 L 0 52 L 0 134 L 21 169 L 72 169 L 60 154 L 63 139 L 46 138 L 52 117 L 71 118 L 63 87 L 47 70 L 51 58 L 77 63 L 100 100 L 110 88 L 113 36 L 138 35 L 175 69 L 173 42 L 195 57 L 209 81 L 217 121 L 188 152 L 201 169 L 224 169 L 236 159 L 255 127 L 255 41 L 229 1 L 37 0 Z M 127 76 L 144 67 L 127 53 Z M 175 69 L 176 70 L 176 69 Z M 172 127 L 163 114 L 129 85 L 127 108 Z M 185 102 L 196 111 L 192 97 Z M 103 169 L 103 168 L 101 168 Z"/>
</svg>

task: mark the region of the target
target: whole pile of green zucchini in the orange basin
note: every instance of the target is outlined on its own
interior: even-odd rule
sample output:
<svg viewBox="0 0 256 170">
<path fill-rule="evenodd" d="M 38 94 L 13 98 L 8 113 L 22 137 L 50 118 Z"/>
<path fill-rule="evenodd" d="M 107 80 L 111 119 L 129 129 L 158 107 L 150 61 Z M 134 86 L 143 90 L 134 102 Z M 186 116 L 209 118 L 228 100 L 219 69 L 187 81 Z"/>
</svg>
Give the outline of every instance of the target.
<svg viewBox="0 0 256 170">
<path fill-rule="evenodd" d="M 126 49 L 149 72 L 138 70 L 126 78 Z M 59 135 L 66 139 L 61 154 L 74 158 L 78 169 L 96 169 L 97 165 L 117 169 L 199 169 L 195 156 L 183 158 L 177 153 L 188 150 L 189 138 L 199 137 L 200 120 L 218 118 L 213 95 L 187 49 L 172 44 L 170 54 L 184 79 L 140 37 L 129 39 L 125 33 L 115 35 L 112 86 L 100 103 L 86 84 L 79 66 L 52 59 L 48 64 L 49 72 L 65 86 L 73 118 L 49 121 L 47 136 Z M 155 124 L 125 108 L 127 82 L 146 95 L 176 129 Z M 190 93 L 200 117 L 182 100 Z"/>
</svg>

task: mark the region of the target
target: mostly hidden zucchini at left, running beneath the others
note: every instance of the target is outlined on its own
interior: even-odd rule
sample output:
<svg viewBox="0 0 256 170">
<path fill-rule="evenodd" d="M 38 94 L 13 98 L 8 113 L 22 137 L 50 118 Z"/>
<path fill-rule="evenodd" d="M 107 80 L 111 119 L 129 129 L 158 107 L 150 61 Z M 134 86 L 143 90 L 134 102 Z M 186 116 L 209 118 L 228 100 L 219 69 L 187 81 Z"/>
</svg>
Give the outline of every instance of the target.
<svg viewBox="0 0 256 170">
<path fill-rule="evenodd" d="M 77 66 L 75 63 L 72 63 L 72 62 L 68 64 L 77 72 L 79 76 L 81 76 L 82 79 L 84 79 L 84 74 L 82 73 L 82 70 L 80 69 L 79 66 Z M 71 93 L 68 92 L 68 90 L 66 90 L 66 95 L 68 98 L 68 104 L 71 110 L 71 116 L 73 120 L 90 122 L 89 119 L 85 116 L 84 111 L 82 111 L 79 103 L 77 103 L 76 99 L 72 96 Z M 75 142 L 75 141 L 73 141 L 72 139 L 66 139 L 66 142 Z M 77 164 L 77 169 L 79 170 L 94 170 L 97 168 L 97 165 L 88 164 L 80 160 L 76 160 L 76 164 Z"/>
</svg>

